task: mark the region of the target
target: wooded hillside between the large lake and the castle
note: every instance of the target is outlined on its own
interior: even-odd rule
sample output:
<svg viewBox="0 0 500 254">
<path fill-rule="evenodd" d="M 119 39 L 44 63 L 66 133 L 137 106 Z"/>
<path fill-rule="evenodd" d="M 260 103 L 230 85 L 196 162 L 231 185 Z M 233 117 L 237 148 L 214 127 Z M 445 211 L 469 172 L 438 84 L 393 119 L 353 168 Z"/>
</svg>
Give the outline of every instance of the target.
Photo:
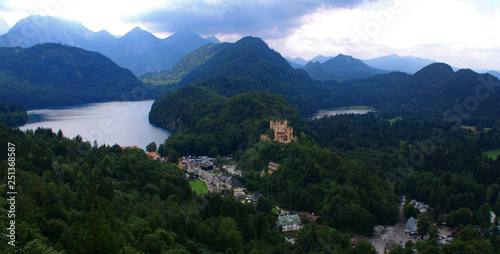
<svg viewBox="0 0 500 254">
<path fill-rule="evenodd" d="M 167 141 L 181 155 L 227 155 L 245 149 L 269 128 L 269 121 L 300 122 L 283 97 L 262 92 L 221 96 L 206 87 L 180 88 L 155 101 L 149 121 L 177 130 Z"/>
</svg>

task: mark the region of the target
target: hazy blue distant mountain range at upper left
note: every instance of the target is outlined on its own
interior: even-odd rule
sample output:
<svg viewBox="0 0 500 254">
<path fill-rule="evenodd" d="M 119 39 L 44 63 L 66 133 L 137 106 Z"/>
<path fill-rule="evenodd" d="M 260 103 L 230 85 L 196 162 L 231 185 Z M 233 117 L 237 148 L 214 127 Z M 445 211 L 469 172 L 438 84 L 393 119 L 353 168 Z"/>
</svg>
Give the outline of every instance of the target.
<svg viewBox="0 0 500 254">
<path fill-rule="evenodd" d="M 186 31 L 159 39 L 138 27 L 117 38 L 104 30 L 93 32 L 75 21 L 39 15 L 20 20 L 0 36 L 0 47 L 30 47 L 46 42 L 97 51 L 140 76 L 169 69 L 192 50 L 219 41 Z"/>
</svg>

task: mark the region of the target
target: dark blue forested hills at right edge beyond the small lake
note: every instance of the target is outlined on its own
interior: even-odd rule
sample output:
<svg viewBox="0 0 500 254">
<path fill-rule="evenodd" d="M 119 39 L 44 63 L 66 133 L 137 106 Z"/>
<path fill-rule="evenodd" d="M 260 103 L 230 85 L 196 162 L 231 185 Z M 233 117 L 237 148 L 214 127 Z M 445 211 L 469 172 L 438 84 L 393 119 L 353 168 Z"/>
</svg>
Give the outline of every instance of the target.
<svg viewBox="0 0 500 254">
<path fill-rule="evenodd" d="M 469 69 L 454 72 L 444 63 L 431 64 L 414 75 L 394 72 L 332 86 L 350 100 L 348 105 L 373 106 L 387 117 L 492 127 L 500 116 L 496 77 Z"/>
</svg>

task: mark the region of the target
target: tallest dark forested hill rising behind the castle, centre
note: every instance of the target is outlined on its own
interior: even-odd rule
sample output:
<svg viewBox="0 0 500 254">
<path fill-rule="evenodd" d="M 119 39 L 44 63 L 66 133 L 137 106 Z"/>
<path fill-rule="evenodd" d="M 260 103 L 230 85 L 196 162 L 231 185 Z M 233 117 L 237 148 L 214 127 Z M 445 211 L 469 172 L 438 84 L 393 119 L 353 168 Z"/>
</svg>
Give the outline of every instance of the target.
<svg viewBox="0 0 500 254">
<path fill-rule="evenodd" d="M 197 84 L 225 96 L 249 91 L 281 94 L 303 115 L 329 107 L 339 99 L 330 89 L 324 89 L 321 83 L 310 79 L 305 71 L 293 69 L 259 38 L 245 37 L 233 44 L 215 47 L 220 50 L 212 57 L 198 56 L 202 64 L 176 69 L 175 73 L 187 74 L 173 87 Z M 213 52 L 207 48 L 200 50 Z M 169 79 L 156 82 L 168 83 Z"/>
</svg>

